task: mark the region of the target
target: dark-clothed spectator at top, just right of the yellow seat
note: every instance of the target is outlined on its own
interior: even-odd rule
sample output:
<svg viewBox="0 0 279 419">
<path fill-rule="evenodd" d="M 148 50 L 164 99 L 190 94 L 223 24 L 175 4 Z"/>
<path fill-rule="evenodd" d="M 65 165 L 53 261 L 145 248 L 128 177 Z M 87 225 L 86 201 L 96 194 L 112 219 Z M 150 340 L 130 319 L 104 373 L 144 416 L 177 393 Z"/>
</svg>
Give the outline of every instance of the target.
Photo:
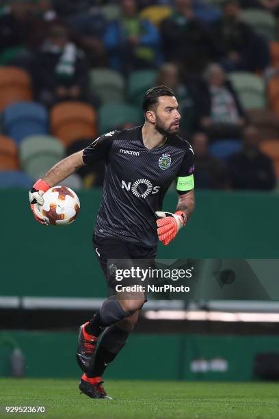
<svg viewBox="0 0 279 419">
<path fill-rule="evenodd" d="M 176 0 L 172 15 L 161 23 L 165 59 L 185 66 L 190 73 L 200 72 L 215 53 L 213 38 L 194 14 L 191 0 Z"/>
</svg>

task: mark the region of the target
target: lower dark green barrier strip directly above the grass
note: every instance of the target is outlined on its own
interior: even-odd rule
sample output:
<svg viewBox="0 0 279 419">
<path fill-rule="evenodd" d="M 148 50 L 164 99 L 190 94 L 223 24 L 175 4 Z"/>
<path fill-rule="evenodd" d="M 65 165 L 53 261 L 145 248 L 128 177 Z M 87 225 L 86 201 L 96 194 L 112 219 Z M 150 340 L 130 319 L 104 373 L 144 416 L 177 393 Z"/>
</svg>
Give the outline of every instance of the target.
<svg viewBox="0 0 279 419">
<path fill-rule="evenodd" d="M 81 374 L 75 361 L 77 333 L 0 332 L 0 377 L 11 375 L 12 350 L 7 342 L 23 351 L 25 377 L 78 378 Z M 276 353 L 278 346 L 279 336 L 132 334 L 105 378 L 253 381 L 256 355 Z"/>
</svg>

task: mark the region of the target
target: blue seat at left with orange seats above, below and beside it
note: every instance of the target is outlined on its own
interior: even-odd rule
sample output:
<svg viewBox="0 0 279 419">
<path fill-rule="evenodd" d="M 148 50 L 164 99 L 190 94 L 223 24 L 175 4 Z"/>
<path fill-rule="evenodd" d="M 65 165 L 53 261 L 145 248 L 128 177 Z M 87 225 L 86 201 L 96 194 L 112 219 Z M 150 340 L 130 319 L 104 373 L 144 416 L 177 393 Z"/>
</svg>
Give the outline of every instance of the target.
<svg viewBox="0 0 279 419">
<path fill-rule="evenodd" d="M 3 130 L 16 142 L 34 134 L 47 134 L 49 131 L 47 110 L 40 103 L 12 103 L 3 112 Z"/>
</svg>

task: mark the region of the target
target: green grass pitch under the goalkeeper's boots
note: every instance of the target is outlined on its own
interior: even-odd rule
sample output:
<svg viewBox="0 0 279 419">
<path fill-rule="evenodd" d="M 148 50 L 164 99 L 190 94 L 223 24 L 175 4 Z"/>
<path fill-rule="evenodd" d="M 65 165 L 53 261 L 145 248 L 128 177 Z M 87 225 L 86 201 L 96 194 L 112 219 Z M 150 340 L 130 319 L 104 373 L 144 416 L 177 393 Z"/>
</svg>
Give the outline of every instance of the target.
<svg viewBox="0 0 279 419">
<path fill-rule="evenodd" d="M 113 401 L 79 394 L 77 381 L 0 379 L 1 418 L 279 418 L 275 383 L 106 381 Z M 5 414 L 4 406 L 45 406 L 45 414 Z"/>
</svg>

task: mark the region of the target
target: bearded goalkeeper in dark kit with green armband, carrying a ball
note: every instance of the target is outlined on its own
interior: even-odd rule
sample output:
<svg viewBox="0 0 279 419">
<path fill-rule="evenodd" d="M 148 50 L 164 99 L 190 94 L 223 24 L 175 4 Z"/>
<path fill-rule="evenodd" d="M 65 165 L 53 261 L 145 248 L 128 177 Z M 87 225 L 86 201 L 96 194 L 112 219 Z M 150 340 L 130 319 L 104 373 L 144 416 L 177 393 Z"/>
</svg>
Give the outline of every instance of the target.
<svg viewBox="0 0 279 419">
<path fill-rule="evenodd" d="M 106 160 L 93 244 L 113 292 L 95 316 L 81 325 L 77 346 L 77 361 L 84 372 L 79 389 L 91 398 L 109 397 L 102 374 L 126 344 L 146 301 L 143 292 L 127 297 L 115 292 L 108 260 L 154 260 L 158 238 L 170 244 L 194 210 L 194 153 L 177 135 L 181 116 L 174 92 L 166 86 L 150 88 L 144 95 L 143 110 L 143 126 L 100 136 L 53 166 L 29 192 L 36 220 L 48 225 L 49 220 L 40 213 L 44 192 L 81 166 Z M 174 179 L 176 210 L 163 212 L 163 197 Z"/>
</svg>

